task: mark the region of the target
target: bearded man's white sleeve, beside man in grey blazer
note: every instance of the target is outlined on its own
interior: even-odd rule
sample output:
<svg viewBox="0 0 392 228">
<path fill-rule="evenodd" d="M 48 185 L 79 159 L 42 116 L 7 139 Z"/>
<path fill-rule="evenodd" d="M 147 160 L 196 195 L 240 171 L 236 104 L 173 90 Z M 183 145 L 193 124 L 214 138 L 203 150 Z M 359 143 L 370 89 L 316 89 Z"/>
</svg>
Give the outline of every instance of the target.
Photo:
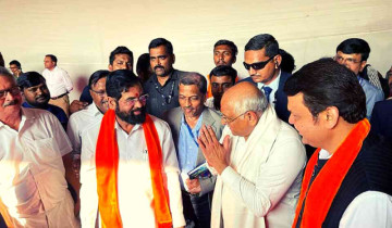
<svg viewBox="0 0 392 228">
<path fill-rule="evenodd" d="M 185 226 L 185 219 L 181 197 L 179 162 L 168 124 L 163 122 L 162 128 L 160 139 L 162 144 L 164 173 L 168 177 L 170 211 L 172 214 L 173 227 L 181 227 Z"/>
</svg>

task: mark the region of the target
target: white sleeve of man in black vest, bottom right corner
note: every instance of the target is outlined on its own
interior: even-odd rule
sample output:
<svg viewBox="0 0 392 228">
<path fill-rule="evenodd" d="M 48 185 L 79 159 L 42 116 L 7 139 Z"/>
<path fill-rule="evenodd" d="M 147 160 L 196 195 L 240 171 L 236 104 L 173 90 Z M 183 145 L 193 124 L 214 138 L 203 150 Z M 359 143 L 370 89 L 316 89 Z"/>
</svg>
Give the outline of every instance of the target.
<svg viewBox="0 0 392 228">
<path fill-rule="evenodd" d="M 392 197 L 377 191 L 359 194 L 343 213 L 339 227 L 392 227 Z"/>
</svg>

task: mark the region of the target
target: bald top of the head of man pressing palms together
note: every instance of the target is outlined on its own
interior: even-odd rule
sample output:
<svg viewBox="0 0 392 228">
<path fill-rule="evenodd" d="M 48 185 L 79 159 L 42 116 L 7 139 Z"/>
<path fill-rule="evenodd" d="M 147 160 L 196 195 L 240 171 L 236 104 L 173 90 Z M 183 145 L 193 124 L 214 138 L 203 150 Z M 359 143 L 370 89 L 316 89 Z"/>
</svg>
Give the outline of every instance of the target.
<svg viewBox="0 0 392 228">
<path fill-rule="evenodd" d="M 223 93 L 222 110 L 232 110 L 240 115 L 246 111 L 262 113 L 268 106 L 265 94 L 252 83 L 241 83 Z"/>
</svg>

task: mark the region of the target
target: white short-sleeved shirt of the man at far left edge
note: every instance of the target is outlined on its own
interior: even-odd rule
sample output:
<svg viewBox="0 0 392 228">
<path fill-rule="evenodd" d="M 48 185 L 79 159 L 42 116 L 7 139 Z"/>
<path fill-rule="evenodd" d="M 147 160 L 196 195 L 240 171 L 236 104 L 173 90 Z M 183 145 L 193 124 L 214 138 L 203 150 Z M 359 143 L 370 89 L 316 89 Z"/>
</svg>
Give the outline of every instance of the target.
<svg viewBox="0 0 392 228">
<path fill-rule="evenodd" d="M 41 216 L 64 199 L 72 201 L 66 198 L 62 161 L 72 148 L 57 117 L 48 111 L 22 107 L 17 131 L 0 122 L 0 197 L 10 216 L 22 225 L 30 218 L 45 227 L 74 219 L 65 212 L 58 217 Z"/>
</svg>

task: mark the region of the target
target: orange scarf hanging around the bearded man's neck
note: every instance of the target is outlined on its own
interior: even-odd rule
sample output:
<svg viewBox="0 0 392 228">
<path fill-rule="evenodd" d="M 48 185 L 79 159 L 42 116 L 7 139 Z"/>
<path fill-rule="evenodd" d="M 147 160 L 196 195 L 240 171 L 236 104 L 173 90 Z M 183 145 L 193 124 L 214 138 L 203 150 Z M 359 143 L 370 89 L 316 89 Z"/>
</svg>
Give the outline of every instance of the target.
<svg viewBox="0 0 392 228">
<path fill-rule="evenodd" d="M 109 110 L 101 122 L 96 149 L 98 205 L 103 228 L 122 227 L 118 197 L 119 147 L 115 136 L 115 113 Z M 143 124 L 148 150 L 154 213 L 158 228 L 170 228 L 172 218 L 162 180 L 162 149 L 149 115 Z"/>
</svg>

